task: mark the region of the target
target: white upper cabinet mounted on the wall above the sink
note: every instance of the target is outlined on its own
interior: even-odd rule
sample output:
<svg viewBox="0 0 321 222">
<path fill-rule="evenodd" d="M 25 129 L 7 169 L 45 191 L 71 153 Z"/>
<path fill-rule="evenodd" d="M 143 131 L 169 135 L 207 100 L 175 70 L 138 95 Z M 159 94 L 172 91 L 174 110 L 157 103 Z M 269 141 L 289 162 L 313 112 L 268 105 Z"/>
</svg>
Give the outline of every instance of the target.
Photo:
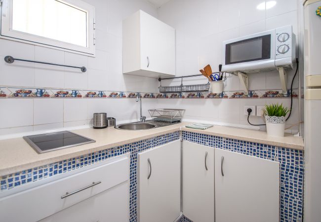
<svg viewBox="0 0 321 222">
<path fill-rule="evenodd" d="M 175 75 L 175 29 L 137 11 L 122 22 L 122 57 L 124 74 Z"/>
</svg>

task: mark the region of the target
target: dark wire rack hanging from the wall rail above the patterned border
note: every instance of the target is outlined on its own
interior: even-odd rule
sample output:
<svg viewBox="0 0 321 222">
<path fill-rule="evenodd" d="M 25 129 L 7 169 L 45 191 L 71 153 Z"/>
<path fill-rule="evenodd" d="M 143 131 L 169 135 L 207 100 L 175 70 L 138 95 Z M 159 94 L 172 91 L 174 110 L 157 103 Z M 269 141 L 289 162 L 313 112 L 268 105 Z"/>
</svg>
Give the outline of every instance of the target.
<svg viewBox="0 0 321 222">
<path fill-rule="evenodd" d="M 221 72 L 216 72 L 213 74 L 219 74 Z M 203 76 L 202 74 L 195 75 L 183 75 L 177 77 L 168 77 L 168 78 L 159 78 L 158 80 L 161 82 L 162 79 L 174 79 L 181 78 L 181 85 L 176 86 L 162 86 L 160 85 L 158 88 L 160 93 L 181 93 L 181 92 L 208 92 L 210 83 L 209 81 L 206 84 L 194 84 L 194 85 L 183 85 L 183 78 L 195 77 L 195 76 Z M 226 78 L 226 76 L 225 76 Z M 225 79 L 224 79 L 225 81 Z"/>
</svg>

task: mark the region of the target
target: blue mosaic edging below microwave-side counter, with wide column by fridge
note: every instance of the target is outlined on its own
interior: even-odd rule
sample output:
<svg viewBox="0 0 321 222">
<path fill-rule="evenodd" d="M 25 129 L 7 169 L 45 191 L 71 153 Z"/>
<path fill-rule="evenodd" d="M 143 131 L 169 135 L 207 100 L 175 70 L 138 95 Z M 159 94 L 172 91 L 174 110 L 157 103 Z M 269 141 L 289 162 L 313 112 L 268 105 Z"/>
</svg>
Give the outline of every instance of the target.
<svg viewBox="0 0 321 222">
<path fill-rule="evenodd" d="M 304 152 L 206 134 L 185 132 L 183 140 L 280 162 L 280 222 L 303 219 Z"/>
</svg>

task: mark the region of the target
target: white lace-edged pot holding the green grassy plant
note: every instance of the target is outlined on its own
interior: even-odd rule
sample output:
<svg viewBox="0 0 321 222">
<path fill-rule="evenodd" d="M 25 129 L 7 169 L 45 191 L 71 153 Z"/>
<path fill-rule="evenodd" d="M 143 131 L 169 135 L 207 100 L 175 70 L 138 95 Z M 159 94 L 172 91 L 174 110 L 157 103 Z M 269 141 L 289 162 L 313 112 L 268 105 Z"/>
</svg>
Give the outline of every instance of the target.
<svg viewBox="0 0 321 222">
<path fill-rule="evenodd" d="M 285 117 L 265 116 L 266 131 L 268 135 L 275 137 L 284 137 Z"/>
</svg>

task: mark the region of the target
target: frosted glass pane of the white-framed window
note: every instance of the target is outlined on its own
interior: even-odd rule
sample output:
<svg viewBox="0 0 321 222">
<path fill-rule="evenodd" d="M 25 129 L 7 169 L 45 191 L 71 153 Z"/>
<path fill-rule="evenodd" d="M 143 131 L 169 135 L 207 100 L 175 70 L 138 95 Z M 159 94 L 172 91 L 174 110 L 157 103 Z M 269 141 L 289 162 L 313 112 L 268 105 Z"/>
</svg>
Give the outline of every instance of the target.
<svg viewBox="0 0 321 222">
<path fill-rule="evenodd" d="M 13 0 L 12 29 L 87 47 L 87 13 L 57 0 Z"/>
</svg>

